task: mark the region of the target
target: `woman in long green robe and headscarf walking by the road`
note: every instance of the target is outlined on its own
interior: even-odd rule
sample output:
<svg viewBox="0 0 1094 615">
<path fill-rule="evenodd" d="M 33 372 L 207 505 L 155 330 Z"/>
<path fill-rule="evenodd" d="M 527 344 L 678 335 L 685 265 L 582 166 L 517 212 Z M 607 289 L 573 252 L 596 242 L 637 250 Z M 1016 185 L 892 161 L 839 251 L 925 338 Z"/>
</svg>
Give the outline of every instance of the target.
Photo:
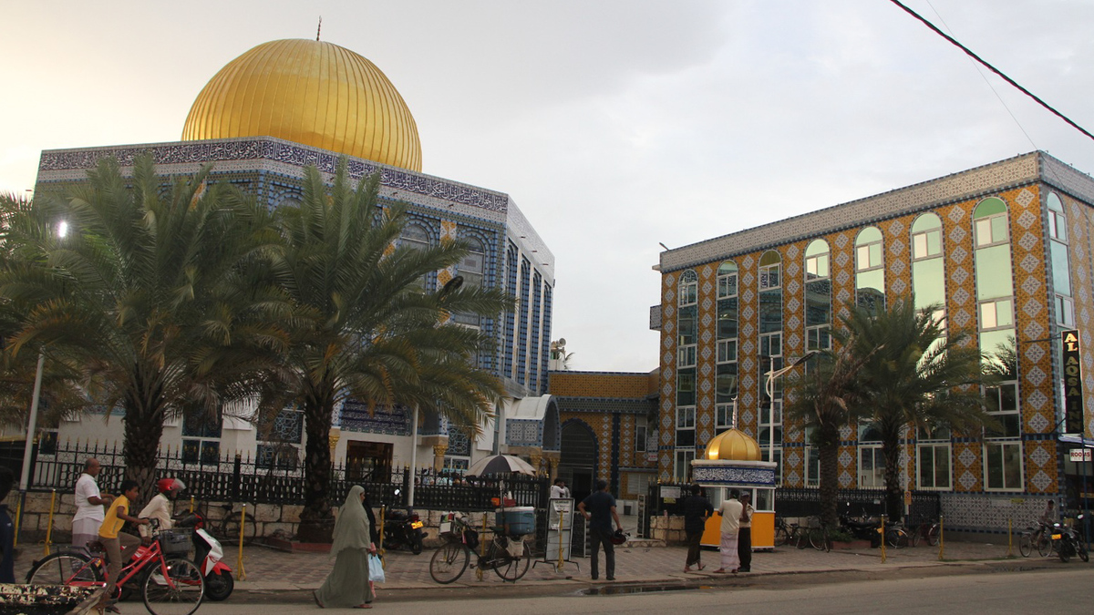
<svg viewBox="0 0 1094 615">
<path fill-rule="evenodd" d="M 376 519 L 365 506 L 364 487 L 353 485 L 335 522 L 330 555 L 335 567 L 323 587 L 312 592 L 319 608 L 372 608 L 369 591 L 369 554 L 376 553 Z"/>
</svg>

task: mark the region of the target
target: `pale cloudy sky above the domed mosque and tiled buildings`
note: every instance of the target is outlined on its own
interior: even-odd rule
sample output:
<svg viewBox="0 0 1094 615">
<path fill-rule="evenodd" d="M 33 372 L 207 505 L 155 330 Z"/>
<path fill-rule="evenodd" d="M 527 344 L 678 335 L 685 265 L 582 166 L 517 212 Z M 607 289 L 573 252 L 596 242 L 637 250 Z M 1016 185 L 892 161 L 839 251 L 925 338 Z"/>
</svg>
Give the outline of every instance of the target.
<svg viewBox="0 0 1094 615">
<path fill-rule="evenodd" d="M 906 0 L 1094 132 L 1094 2 Z M 279 38 L 372 60 L 422 171 L 509 194 L 555 254 L 570 368 L 657 367 L 680 247 L 1094 141 L 891 0 L 0 0 L 0 193 L 42 150 L 175 141 L 225 63 Z"/>
</svg>

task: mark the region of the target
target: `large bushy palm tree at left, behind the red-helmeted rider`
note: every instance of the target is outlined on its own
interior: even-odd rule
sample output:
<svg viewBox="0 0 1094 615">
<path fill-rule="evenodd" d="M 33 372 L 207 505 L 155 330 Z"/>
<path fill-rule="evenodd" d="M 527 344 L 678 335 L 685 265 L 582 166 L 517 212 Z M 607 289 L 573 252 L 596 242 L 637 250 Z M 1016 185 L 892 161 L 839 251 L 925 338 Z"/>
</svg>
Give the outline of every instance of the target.
<svg viewBox="0 0 1094 615">
<path fill-rule="evenodd" d="M 11 353 L 48 347 L 95 403 L 124 413 L 126 477 L 146 492 L 165 419 L 198 408 L 219 420 L 223 402 L 266 399 L 282 373 L 288 338 L 269 314 L 279 295 L 249 272 L 279 237 L 264 208 L 208 185 L 210 170 L 164 186 L 150 156 L 129 178 L 103 160 L 16 214 L 0 272 L 0 297 L 22 317 Z M 68 236 L 32 216 L 66 220 Z"/>
</svg>

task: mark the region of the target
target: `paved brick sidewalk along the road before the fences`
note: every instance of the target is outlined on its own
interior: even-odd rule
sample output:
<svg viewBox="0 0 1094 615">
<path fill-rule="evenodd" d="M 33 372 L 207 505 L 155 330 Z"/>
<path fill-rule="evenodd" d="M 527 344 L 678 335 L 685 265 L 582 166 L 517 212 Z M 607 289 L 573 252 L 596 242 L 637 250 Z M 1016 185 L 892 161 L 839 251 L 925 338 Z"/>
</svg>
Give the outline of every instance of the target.
<svg viewBox="0 0 1094 615">
<path fill-rule="evenodd" d="M 327 554 L 323 553 L 290 554 L 260 546 L 251 546 L 244 548 L 246 578 L 241 579 L 237 567 L 238 549 L 225 547 L 224 550 L 224 562 L 233 569 L 236 577 L 236 592 L 271 593 L 313 590 L 323 583 L 333 566 Z M 756 575 L 850 570 L 883 571 L 907 567 L 946 566 L 954 562 L 966 564 L 1006 557 L 1005 543 L 998 545 L 947 542 L 944 561 L 939 560 L 938 547 L 928 547 L 922 544 L 919 547 L 886 549 L 885 562 L 882 561 L 878 548 L 823 553 L 812 548 L 779 547 L 772 552 L 757 552 L 753 556 L 752 572 L 734 576 L 712 573 L 719 567 L 719 554 L 717 550 L 706 549 L 702 553 L 706 570 L 684 572 L 686 550 L 685 547 L 617 547 L 615 583 L 679 584 L 701 582 L 703 579 L 713 581 L 722 578 Z M 1014 552 L 1017 556 L 1016 547 Z M 468 568 L 455 583 L 440 585 L 429 575 L 429 561 L 432 555 L 433 549 L 430 548 L 418 556 L 404 550 L 388 552 L 386 556 L 387 580 L 383 585 L 377 587 L 377 593 L 401 593 L 401 590 L 411 590 L 414 593 L 418 593 L 421 590 L 445 588 L 491 588 L 501 587 L 503 583 L 501 578 L 491 570 L 485 571 L 482 579 L 478 580 L 476 570 Z M 30 553 L 24 548 L 15 564 L 16 580 L 22 581 L 31 567 L 32 559 L 40 556 L 42 550 L 38 545 L 31 545 Z M 603 560 L 603 555 L 601 559 Z M 1017 560 L 1032 565 L 1043 561 L 1044 558 L 1034 554 L 1028 559 L 1017 556 Z M 603 561 L 601 566 L 604 566 Z M 568 585 L 579 590 L 591 583 L 593 581 L 590 580 L 587 558 L 575 558 L 572 562 L 563 562 L 561 570 L 556 570 L 555 562 L 539 561 L 537 564 L 533 561 L 527 575 L 517 581 L 519 585 L 559 585 L 563 590 Z M 604 580 L 602 570 L 601 581 L 597 581 L 597 584 L 605 583 L 607 581 Z"/>
</svg>

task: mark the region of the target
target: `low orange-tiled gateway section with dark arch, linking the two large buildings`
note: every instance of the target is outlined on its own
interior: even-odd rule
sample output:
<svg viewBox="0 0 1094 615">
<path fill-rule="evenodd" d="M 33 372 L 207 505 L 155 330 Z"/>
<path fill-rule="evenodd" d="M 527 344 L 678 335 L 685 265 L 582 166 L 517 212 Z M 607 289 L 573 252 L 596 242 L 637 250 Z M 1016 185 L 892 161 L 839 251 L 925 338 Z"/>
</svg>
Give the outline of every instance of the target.
<svg viewBox="0 0 1094 615">
<path fill-rule="evenodd" d="M 575 497 L 596 479 L 619 500 L 637 500 L 656 479 L 657 373 L 550 372 L 561 423 L 561 464 Z"/>
</svg>

